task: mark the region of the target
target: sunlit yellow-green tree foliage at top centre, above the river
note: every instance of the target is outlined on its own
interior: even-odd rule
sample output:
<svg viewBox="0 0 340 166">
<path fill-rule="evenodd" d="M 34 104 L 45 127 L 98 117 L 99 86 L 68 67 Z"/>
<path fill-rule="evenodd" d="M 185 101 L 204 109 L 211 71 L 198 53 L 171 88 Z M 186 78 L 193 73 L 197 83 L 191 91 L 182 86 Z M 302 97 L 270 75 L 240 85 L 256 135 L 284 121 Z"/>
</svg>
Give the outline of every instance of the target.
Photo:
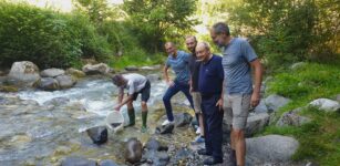
<svg viewBox="0 0 340 166">
<path fill-rule="evenodd" d="M 196 10 L 195 0 L 124 0 L 124 10 L 130 15 L 133 34 L 152 52 L 197 23 L 189 18 Z"/>
</svg>

